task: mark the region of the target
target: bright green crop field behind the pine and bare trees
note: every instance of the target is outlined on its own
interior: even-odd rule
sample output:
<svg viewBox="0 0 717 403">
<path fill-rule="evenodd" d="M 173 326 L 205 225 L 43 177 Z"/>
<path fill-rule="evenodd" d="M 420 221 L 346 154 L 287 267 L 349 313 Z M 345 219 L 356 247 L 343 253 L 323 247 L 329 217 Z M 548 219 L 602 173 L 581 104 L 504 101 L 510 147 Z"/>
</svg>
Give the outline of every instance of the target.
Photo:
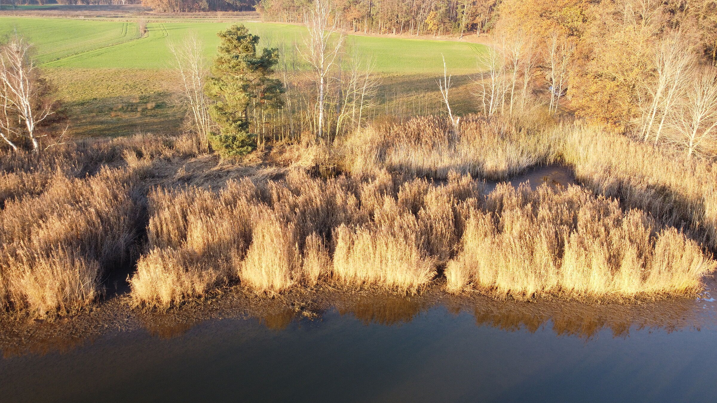
<svg viewBox="0 0 717 403">
<path fill-rule="evenodd" d="M 294 49 L 303 43 L 304 27 L 286 24 L 244 23 L 262 38 L 262 46 Z M 18 32 L 37 48 L 43 67 L 163 69 L 171 60 L 167 44 L 190 32 L 202 39 L 206 57 L 216 52 L 217 32 L 224 22 L 151 22 L 139 37 L 134 22 L 82 19 L 0 17 L 0 36 Z M 388 73 L 442 73 L 441 54 L 453 73 L 475 72 L 483 45 L 467 42 L 349 36 L 348 52 L 371 58 L 376 71 Z"/>
</svg>

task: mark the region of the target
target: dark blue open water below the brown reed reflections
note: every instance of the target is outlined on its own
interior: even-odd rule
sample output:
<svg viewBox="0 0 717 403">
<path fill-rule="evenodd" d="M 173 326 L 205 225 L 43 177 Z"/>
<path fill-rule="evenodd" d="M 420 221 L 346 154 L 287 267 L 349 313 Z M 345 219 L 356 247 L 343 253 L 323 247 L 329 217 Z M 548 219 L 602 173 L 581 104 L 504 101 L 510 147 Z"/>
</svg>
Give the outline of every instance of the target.
<svg viewBox="0 0 717 403">
<path fill-rule="evenodd" d="M 708 295 L 695 304 L 714 319 Z M 383 322 L 377 323 L 377 322 Z M 387 325 L 328 310 L 204 321 L 0 361 L 2 402 L 714 402 L 715 326 L 513 330 L 438 305 Z M 505 326 L 503 326 L 505 328 Z"/>
</svg>

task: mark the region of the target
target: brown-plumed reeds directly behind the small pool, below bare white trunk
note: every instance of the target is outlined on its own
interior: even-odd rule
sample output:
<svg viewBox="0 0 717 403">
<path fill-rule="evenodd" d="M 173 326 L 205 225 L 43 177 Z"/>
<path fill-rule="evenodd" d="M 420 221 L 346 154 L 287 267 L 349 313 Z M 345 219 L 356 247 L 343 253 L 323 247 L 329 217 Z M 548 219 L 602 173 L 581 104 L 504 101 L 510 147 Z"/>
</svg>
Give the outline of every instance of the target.
<svg viewBox="0 0 717 403">
<path fill-rule="evenodd" d="M 489 180 L 508 179 L 549 162 L 549 138 L 521 131 L 505 120 L 465 117 L 460 128 L 445 119 L 414 118 L 362 128 L 341 141 L 343 168 L 374 175 L 388 170 L 446 179 L 450 171 Z"/>
</svg>

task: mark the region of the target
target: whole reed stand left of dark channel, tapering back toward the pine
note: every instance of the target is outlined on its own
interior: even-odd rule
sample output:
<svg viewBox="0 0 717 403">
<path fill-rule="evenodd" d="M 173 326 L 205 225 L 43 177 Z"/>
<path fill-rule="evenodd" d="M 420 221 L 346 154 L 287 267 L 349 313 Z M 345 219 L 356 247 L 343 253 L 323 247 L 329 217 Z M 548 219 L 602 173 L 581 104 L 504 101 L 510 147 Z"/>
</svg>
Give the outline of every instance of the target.
<svg viewBox="0 0 717 403">
<path fill-rule="evenodd" d="M 133 259 L 148 174 L 193 152 L 135 136 L 0 153 L 0 310 L 44 317 L 97 300 Z"/>
</svg>

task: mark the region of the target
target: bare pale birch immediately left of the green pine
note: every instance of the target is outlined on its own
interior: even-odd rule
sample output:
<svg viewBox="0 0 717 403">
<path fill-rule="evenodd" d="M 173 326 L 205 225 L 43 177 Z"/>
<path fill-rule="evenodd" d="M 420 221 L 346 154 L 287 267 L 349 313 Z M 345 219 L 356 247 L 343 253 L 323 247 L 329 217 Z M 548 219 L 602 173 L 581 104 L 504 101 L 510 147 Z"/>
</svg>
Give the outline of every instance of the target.
<svg viewBox="0 0 717 403">
<path fill-rule="evenodd" d="M 191 34 L 180 44 L 170 43 L 168 47 L 174 56 L 172 64 L 179 81 L 180 103 L 189 111 L 191 128 L 201 139 L 202 147 L 208 150 L 212 119 L 209 99 L 204 93 L 208 70 L 201 54 L 203 45 L 196 34 Z"/>
</svg>

